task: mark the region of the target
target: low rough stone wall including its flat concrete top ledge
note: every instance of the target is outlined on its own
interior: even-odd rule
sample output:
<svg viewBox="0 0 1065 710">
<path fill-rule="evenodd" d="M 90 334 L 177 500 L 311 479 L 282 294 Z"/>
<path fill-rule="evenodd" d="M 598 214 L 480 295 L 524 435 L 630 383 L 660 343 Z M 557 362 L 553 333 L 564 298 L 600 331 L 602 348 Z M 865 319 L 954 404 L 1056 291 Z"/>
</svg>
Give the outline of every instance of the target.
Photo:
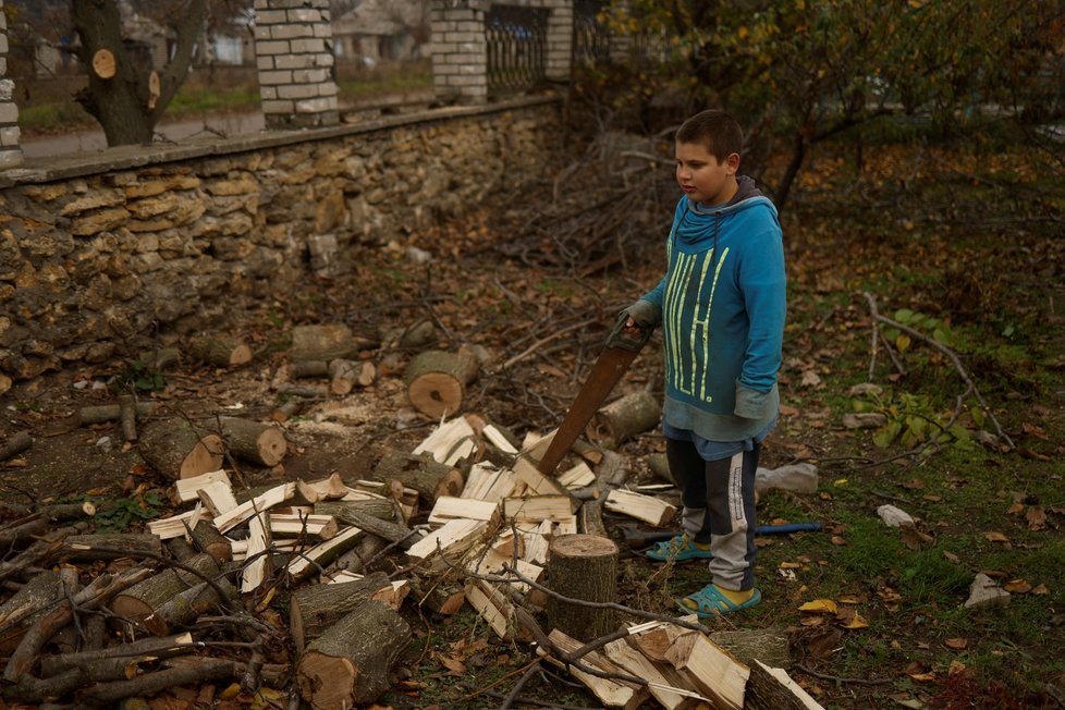
<svg viewBox="0 0 1065 710">
<path fill-rule="evenodd" d="M 538 180 L 560 114 L 541 97 L 0 172 L 0 394 L 283 297 L 309 244 L 357 257 Z"/>
</svg>

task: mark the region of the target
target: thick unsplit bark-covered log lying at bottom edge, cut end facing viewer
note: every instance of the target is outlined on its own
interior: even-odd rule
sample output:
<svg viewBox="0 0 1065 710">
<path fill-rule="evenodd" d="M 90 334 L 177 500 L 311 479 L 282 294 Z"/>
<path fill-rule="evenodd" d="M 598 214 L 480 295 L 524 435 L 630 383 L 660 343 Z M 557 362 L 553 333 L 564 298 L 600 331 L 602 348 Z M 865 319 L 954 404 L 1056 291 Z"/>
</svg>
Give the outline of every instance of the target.
<svg viewBox="0 0 1065 710">
<path fill-rule="evenodd" d="M 392 666 L 409 642 L 403 617 L 368 601 L 307 646 L 296 664 L 299 694 L 322 710 L 372 702 L 391 687 Z"/>
</svg>

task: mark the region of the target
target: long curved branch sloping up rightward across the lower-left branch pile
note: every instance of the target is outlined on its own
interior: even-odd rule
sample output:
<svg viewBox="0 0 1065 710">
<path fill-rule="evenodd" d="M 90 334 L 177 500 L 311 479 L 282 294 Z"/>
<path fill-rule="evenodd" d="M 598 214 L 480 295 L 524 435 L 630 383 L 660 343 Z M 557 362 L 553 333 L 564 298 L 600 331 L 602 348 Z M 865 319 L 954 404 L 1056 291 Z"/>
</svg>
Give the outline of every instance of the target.
<svg viewBox="0 0 1065 710">
<path fill-rule="evenodd" d="M 77 609 L 79 612 L 99 609 L 114 595 L 131 585 L 135 586 L 150 574 L 151 571 L 145 568 L 127 570 L 119 575 L 102 574 L 70 599 L 60 600 L 26 629 L 26 634 L 8 659 L 8 664 L 3 669 L 3 680 L 14 683 L 29 674 L 40 649 L 45 647 L 48 639 L 70 623 L 73 617 L 72 609 Z"/>
</svg>

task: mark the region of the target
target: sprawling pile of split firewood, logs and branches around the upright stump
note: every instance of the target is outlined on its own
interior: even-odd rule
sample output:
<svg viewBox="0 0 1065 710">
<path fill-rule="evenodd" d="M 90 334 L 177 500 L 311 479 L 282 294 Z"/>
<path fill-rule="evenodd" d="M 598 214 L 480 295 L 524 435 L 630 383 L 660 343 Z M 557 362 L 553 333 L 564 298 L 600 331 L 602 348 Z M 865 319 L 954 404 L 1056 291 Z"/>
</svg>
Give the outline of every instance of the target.
<svg viewBox="0 0 1065 710">
<path fill-rule="evenodd" d="M 0 697 L 109 707 L 182 686 L 209 700 L 217 685 L 230 688 L 221 696 L 289 689 L 289 707 L 351 708 L 392 687 L 412 639 L 407 603 L 441 614 L 470 604 L 611 707 L 817 707 L 786 673 L 739 663 L 690 620 L 644 614 L 654 621 L 617 629 L 617 548 L 602 511 L 656 526 L 675 514 L 622 488 L 620 455 L 583 443 L 544 476 L 536 462 L 550 436 L 519 442 L 456 417 L 409 454 L 383 457 L 369 480 L 235 491 L 217 440 L 273 465 L 279 432 L 236 419 L 154 423 L 140 445 L 160 452 L 145 458 L 173 476 L 181 511 L 144 534 L 89 534 L 91 506 L 77 505 L 0 527 L 11 550 L 0 580 L 15 590 L 0 604 Z M 372 571 L 383 555 L 402 555 L 391 578 Z M 287 617 L 272 604 L 279 593 Z"/>
</svg>

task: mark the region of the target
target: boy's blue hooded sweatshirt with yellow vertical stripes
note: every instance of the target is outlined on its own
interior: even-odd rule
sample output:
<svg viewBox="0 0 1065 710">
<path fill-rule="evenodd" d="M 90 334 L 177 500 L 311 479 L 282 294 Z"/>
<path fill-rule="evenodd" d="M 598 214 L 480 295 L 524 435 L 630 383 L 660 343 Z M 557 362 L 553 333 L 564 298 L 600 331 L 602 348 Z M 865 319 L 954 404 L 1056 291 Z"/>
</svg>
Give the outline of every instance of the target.
<svg viewBox="0 0 1065 710">
<path fill-rule="evenodd" d="M 726 205 L 677 203 L 669 267 L 640 297 L 657 307 L 665 345 L 662 418 L 709 441 L 763 433 L 780 406 L 786 316 L 776 208 L 740 176 Z"/>
</svg>

